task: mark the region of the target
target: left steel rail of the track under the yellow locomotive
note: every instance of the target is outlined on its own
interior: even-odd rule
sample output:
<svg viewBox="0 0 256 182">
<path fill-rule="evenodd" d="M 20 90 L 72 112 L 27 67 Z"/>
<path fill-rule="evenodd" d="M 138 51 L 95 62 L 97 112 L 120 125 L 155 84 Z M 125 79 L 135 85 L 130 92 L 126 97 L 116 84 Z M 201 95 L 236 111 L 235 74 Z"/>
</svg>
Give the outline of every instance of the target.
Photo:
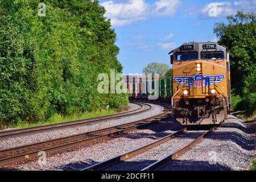
<svg viewBox="0 0 256 182">
<path fill-rule="evenodd" d="M 155 146 L 159 146 L 160 144 L 162 144 L 164 142 L 167 142 L 168 140 L 171 140 L 171 139 L 177 137 L 177 135 L 183 134 L 186 131 L 187 131 L 187 128 L 181 129 L 181 130 L 179 130 L 179 131 L 177 131 L 173 134 L 167 135 L 166 137 L 160 138 L 160 139 L 156 140 L 155 142 L 146 144 L 142 147 L 139 147 L 139 148 L 136 148 L 136 149 L 131 150 L 129 152 L 126 152 L 125 154 L 115 156 L 114 158 L 105 160 L 103 162 L 93 164 L 92 166 L 83 168 L 80 171 L 96 171 L 96 170 L 100 170 L 101 168 L 108 167 L 108 166 L 113 165 L 115 163 L 124 161 L 128 158 L 131 158 L 131 157 L 135 156 L 135 155 L 141 154 L 142 152 L 144 152 L 144 151 L 146 151 L 150 148 L 153 148 Z"/>
</svg>

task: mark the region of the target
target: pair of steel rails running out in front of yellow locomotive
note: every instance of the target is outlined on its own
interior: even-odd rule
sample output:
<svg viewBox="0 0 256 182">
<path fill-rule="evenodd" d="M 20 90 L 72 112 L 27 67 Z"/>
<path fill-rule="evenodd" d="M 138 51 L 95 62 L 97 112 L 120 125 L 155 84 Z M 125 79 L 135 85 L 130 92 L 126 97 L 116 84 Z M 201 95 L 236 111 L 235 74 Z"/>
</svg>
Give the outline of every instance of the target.
<svg viewBox="0 0 256 182">
<path fill-rule="evenodd" d="M 176 158 L 178 158 L 180 155 L 184 154 L 185 152 L 187 152 L 188 150 L 190 150 L 192 147 L 194 147 L 196 144 L 200 143 L 205 137 L 207 137 L 207 135 L 209 135 L 210 133 L 212 133 L 214 130 L 216 130 L 216 126 L 212 127 L 212 129 L 208 130 L 207 132 L 205 132 L 203 135 L 201 135 L 200 137 L 197 137 L 196 139 L 192 140 L 192 142 L 186 144 L 184 147 L 180 148 L 179 150 L 175 151 L 174 153 L 166 156 L 165 158 L 158 160 L 155 163 L 152 163 L 150 166 L 147 166 L 143 169 L 141 169 L 141 171 L 152 171 L 155 170 L 161 166 L 163 166 L 165 163 L 167 163 L 170 160 L 174 160 Z M 118 155 L 115 156 L 114 158 L 105 160 L 104 162 L 100 162 L 97 164 L 94 164 L 92 166 L 86 167 L 84 169 L 81 169 L 81 171 L 97 171 L 97 170 L 108 170 L 108 167 L 112 167 L 116 164 L 118 164 L 119 162 L 123 162 L 128 158 L 131 158 L 135 155 L 141 154 L 147 150 L 149 150 L 150 148 L 159 146 L 162 143 L 165 143 L 181 134 L 184 134 L 187 132 L 187 127 L 177 131 L 174 134 L 170 134 L 167 135 L 166 137 L 160 138 L 158 140 L 156 140 L 155 142 L 146 144 L 142 147 L 139 147 L 135 150 L 131 150 L 129 152 L 126 152 L 125 154 L 122 155 Z"/>
</svg>

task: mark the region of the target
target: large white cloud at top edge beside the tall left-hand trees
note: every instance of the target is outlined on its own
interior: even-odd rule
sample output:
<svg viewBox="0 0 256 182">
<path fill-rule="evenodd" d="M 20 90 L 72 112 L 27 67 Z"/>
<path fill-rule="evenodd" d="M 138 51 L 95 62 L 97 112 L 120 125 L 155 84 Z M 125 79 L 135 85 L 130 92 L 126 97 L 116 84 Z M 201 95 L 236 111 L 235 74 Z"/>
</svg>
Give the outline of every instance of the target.
<svg viewBox="0 0 256 182">
<path fill-rule="evenodd" d="M 180 0 L 158 0 L 154 4 L 145 0 L 114 0 L 101 3 L 106 9 L 105 16 L 111 19 L 112 26 L 121 27 L 149 17 L 172 16 Z"/>
</svg>

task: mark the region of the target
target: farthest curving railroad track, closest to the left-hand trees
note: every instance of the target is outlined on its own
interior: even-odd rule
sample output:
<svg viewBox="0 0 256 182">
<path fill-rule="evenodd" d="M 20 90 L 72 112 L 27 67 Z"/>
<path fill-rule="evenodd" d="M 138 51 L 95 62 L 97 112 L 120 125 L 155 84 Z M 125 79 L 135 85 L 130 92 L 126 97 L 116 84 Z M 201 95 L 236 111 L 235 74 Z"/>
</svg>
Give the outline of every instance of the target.
<svg viewBox="0 0 256 182">
<path fill-rule="evenodd" d="M 45 126 L 36 126 L 30 127 L 26 129 L 17 129 L 17 130 L 10 130 L 10 131 L 2 131 L 0 132 L 0 139 L 10 138 L 10 137 L 17 137 L 22 135 L 34 134 L 34 133 L 41 133 L 44 131 L 52 131 L 58 129 L 64 129 L 66 127 L 75 127 L 75 126 L 82 126 L 82 125 L 92 125 L 94 123 L 110 120 L 110 119 L 117 119 L 121 117 L 127 117 L 130 115 L 141 114 L 151 109 L 151 105 L 149 104 L 142 104 L 141 102 L 132 102 L 133 104 L 137 104 L 140 106 L 139 109 L 125 111 L 118 114 L 106 115 L 103 117 L 97 118 L 90 118 L 90 119 L 81 119 L 77 121 L 65 122 L 65 123 L 56 123 L 52 125 L 45 125 Z M 143 107 L 148 106 L 147 109 L 143 109 Z"/>
</svg>

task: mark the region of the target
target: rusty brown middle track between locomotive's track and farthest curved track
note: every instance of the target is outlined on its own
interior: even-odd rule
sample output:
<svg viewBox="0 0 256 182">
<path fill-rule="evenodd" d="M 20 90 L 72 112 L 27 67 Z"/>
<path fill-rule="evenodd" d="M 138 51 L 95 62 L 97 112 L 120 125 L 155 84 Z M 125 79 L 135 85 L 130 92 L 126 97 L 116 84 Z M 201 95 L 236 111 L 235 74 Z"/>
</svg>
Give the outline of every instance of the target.
<svg viewBox="0 0 256 182">
<path fill-rule="evenodd" d="M 126 123 L 124 125 L 109 127 L 107 129 L 92 131 L 79 135 L 73 135 L 71 137 L 64 137 L 54 140 L 48 140 L 46 142 L 39 142 L 26 146 L 1 150 L 0 168 L 1 166 L 8 163 L 11 164 L 16 162 L 22 162 L 24 160 L 36 159 L 38 158 L 38 153 L 40 151 L 44 151 L 47 155 L 51 155 L 57 151 L 65 150 L 68 148 L 73 148 L 92 142 L 98 142 L 99 140 L 108 139 L 111 137 L 119 137 L 131 131 L 152 125 L 153 123 L 159 122 L 163 118 L 167 118 L 170 116 L 171 112 L 165 111 L 164 113 L 155 115 L 154 117 Z"/>
</svg>

